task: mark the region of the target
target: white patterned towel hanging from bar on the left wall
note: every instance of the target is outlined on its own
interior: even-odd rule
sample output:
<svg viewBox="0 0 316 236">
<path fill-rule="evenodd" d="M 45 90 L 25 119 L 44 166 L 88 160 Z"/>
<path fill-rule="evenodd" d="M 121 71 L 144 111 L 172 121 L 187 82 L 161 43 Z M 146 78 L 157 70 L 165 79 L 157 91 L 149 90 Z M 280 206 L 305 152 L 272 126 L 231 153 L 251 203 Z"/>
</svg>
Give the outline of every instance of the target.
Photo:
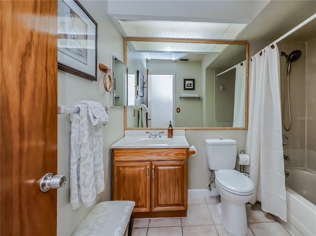
<svg viewBox="0 0 316 236">
<path fill-rule="evenodd" d="M 74 107 L 80 109 L 70 115 L 70 202 L 76 209 L 93 205 L 104 190 L 102 125 L 109 117 L 98 102 L 79 101 Z"/>
</svg>

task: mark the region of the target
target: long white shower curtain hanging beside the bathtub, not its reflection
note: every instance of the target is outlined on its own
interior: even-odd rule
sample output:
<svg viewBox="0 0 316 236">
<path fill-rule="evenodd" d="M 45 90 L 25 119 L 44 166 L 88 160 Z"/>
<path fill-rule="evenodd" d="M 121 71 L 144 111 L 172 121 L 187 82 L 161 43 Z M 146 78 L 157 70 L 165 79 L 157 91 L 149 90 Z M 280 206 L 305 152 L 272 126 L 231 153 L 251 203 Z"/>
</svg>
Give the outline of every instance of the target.
<svg viewBox="0 0 316 236">
<path fill-rule="evenodd" d="M 250 203 L 261 201 L 262 210 L 287 222 L 282 148 L 277 46 L 265 47 L 251 57 L 249 75 L 249 127 L 246 152 L 250 178 L 255 184 Z"/>
</svg>

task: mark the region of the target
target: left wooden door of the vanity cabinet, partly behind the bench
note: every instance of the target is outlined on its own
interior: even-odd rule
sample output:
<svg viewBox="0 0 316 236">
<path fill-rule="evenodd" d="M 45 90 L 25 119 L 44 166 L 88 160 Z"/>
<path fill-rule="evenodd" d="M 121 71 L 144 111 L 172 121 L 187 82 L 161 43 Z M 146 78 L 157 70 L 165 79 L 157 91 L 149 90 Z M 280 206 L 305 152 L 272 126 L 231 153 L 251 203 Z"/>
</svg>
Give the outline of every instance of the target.
<svg viewBox="0 0 316 236">
<path fill-rule="evenodd" d="M 113 165 L 113 200 L 135 201 L 134 212 L 150 211 L 150 161 Z"/>
</svg>

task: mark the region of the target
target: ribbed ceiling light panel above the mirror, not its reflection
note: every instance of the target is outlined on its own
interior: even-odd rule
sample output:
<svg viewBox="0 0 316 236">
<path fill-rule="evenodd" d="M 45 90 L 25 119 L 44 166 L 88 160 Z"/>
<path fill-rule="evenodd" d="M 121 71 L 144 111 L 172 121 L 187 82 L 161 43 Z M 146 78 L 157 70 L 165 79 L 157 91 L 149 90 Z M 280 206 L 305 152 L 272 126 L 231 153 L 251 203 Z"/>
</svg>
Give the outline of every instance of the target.
<svg viewBox="0 0 316 236">
<path fill-rule="evenodd" d="M 126 37 L 174 39 L 235 39 L 246 24 L 118 20 Z M 239 30 L 239 31 L 238 31 Z M 230 37 L 230 38 L 228 38 Z"/>
</svg>

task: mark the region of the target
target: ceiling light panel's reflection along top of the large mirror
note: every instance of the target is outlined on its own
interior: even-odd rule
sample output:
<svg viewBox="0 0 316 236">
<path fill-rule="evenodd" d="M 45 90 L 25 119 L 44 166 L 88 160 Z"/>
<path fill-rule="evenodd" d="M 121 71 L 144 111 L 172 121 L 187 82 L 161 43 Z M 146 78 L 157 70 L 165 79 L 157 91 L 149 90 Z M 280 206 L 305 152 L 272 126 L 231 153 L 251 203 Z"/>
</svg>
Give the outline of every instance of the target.
<svg viewBox="0 0 316 236">
<path fill-rule="evenodd" d="M 130 41 L 136 51 L 164 52 L 210 52 L 216 44 L 186 42 Z"/>
</svg>

